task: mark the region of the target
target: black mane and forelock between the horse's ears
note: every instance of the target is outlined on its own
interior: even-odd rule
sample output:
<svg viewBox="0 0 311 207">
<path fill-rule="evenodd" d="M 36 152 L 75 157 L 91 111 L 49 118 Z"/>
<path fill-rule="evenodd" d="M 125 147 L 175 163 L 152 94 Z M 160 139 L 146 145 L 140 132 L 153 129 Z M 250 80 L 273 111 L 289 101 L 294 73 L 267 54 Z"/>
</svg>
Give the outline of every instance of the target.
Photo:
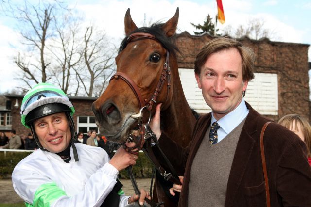
<svg viewBox="0 0 311 207">
<path fill-rule="evenodd" d="M 138 28 L 136 30 L 134 30 L 133 32 L 131 32 L 129 35 L 136 33 L 136 32 L 145 32 L 145 33 L 149 33 L 155 36 L 155 38 L 162 43 L 163 47 L 166 48 L 167 50 L 169 50 L 170 53 L 175 54 L 175 52 L 179 52 L 178 48 L 173 44 L 173 39 L 174 39 L 174 35 L 172 37 L 167 37 L 163 30 L 162 30 L 162 26 L 164 24 L 163 23 L 155 23 L 152 24 L 151 27 L 141 27 Z M 119 48 L 119 53 L 126 47 L 127 45 L 127 37 L 126 36 L 120 45 Z"/>
</svg>

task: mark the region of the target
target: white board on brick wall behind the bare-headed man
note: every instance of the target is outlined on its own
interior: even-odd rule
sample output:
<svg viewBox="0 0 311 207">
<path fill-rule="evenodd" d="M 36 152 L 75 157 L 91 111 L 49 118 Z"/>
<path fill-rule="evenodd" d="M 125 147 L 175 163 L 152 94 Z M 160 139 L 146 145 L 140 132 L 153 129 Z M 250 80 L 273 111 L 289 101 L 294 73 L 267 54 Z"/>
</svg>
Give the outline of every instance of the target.
<svg viewBox="0 0 311 207">
<path fill-rule="evenodd" d="M 278 84 L 275 73 L 254 73 L 255 79 L 248 83 L 244 100 L 256 111 L 265 115 L 278 114 Z M 192 109 L 198 113 L 211 111 L 194 77 L 193 69 L 179 68 L 183 90 Z"/>
</svg>

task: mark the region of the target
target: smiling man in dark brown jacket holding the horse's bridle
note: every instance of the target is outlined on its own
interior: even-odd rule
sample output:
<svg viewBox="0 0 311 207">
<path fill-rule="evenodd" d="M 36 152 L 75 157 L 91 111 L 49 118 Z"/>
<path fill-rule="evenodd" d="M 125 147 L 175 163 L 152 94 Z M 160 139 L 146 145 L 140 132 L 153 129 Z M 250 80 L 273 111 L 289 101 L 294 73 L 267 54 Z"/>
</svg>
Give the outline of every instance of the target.
<svg viewBox="0 0 311 207">
<path fill-rule="evenodd" d="M 160 104 L 151 127 L 164 153 L 185 169 L 178 206 L 264 207 L 267 205 L 260 157 L 260 132 L 271 121 L 243 100 L 254 78 L 254 52 L 238 41 L 216 38 L 195 60 L 195 78 L 212 112 L 202 116 L 186 148 L 160 130 Z M 264 148 L 272 207 L 311 207 L 311 168 L 305 143 L 271 123 Z M 175 150 L 175 154 L 172 153 Z M 169 153 L 170 152 L 170 153 Z"/>
</svg>

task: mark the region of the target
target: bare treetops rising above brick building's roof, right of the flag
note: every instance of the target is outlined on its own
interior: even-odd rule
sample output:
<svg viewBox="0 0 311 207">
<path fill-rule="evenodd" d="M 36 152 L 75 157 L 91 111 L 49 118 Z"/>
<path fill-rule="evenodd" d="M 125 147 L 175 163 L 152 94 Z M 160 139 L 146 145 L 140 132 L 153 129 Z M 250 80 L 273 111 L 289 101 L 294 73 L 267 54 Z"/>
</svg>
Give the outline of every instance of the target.
<svg viewBox="0 0 311 207">
<path fill-rule="evenodd" d="M 253 18 L 248 20 L 246 24 L 239 25 L 236 29 L 233 29 L 231 25 L 228 25 L 224 28 L 223 31 L 225 34 L 228 34 L 235 38 L 241 38 L 243 36 L 247 36 L 255 40 L 259 40 L 264 37 L 267 37 L 269 39 L 275 38 L 275 32 L 265 28 L 264 26 L 264 19 Z"/>
</svg>

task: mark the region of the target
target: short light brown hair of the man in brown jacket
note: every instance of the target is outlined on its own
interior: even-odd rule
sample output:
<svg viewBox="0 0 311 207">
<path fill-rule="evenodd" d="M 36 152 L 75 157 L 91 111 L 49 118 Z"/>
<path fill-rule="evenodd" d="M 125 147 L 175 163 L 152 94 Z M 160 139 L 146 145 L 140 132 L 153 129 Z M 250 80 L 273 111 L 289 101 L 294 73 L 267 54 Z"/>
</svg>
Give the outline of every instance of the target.
<svg viewBox="0 0 311 207">
<path fill-rule="evenodd" d="M 194 72 L 197 75 L 200 75 L 201 67 L 205 64 L 211 54 L 223 50 L 229 50 L 231 48 L 236 48 L 241 55 L 243 80 L 254 79 L 255 53 L 251 48 L 243 46 L 239 41 L 227 37 L 212 39 L 200 49 L 194 61 Z"/>
</svg>

